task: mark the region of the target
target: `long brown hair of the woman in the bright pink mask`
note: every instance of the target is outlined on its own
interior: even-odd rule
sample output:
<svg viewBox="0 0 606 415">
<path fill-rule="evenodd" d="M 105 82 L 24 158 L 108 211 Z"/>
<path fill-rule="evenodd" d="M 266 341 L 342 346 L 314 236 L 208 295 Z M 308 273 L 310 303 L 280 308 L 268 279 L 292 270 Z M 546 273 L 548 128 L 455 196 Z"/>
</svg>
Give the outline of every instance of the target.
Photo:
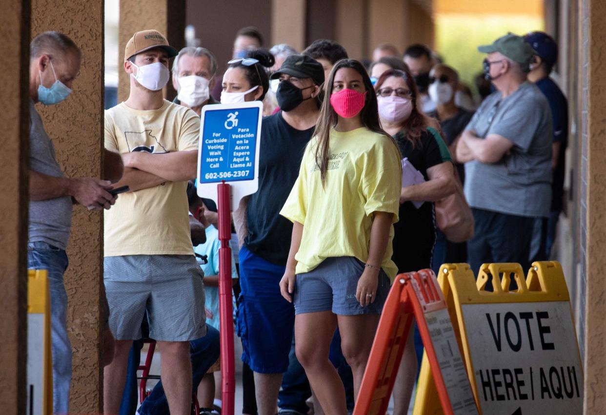
<svg viewBox="0 0 606 415">
<path fill-rule="evenodd" d="M 326 184 L 326 174 L 328 171 L 330 131 L 335 128 L 337 121 L 339 120 L 337 113 L 330 104 L 330 96 L 333 93 L 335 74 L 341 68 L 354 69 L 362 76 L 362 82 L 364 83 L 367 91 L 366 102 L 364 103 L 364 108 L 362 108 L 362 111 L 360 112 L 362 125 L 373 132 L 385 134 L 387 137 L 391 138 L 391 136 L 381 128 L 377 97 L 375 93 L 373 93 L 373 84 L 370 82 L 370 78 L 368 77 L 368 73 L 364 69 L 364 66 L 362 66 L 362 64 L 355 59 L 341 59 L 340 61 L 336 62 L 335 66 L 333 66 L 333 69 L 330 71 L 327 81 L 324 83 L 324 99 L 322 100 L 320 116 L 314 131 L 314 135 L 318 136 L 318 146 L 316 147 L 316 166 L 318 166 L 318 169 L 320 170 L 322 186 Z M 397 150 L 398 146 L 395 147 Z"/>
</svg>

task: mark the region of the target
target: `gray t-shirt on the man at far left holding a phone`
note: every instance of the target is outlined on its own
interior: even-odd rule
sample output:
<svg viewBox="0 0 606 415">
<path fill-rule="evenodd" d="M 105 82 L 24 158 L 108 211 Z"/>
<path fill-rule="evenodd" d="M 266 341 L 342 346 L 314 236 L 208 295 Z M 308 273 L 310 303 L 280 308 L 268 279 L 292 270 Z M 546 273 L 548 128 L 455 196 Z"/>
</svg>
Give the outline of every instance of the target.
<svg viewBox="0 0 606 415">
<path fill-rule="evenodd" d="M 30 169 L 48 176 L 63 177 L 55 160 L 55 146 L 44 130 L 42 118 L 30 101 Z M 30 200 L 30 242 L 43 241 L 65 249 L 72 226 L 72 198 Z"/>
</svg>

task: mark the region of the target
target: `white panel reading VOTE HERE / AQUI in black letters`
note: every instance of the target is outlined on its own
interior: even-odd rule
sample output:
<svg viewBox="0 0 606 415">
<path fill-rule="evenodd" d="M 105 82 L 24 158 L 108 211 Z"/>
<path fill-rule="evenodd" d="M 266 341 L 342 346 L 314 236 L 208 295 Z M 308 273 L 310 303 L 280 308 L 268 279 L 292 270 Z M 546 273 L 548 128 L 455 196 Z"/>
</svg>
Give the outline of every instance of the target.
<svg viewBox="0 0 606 415">
<path fill-rule="evenodd" d="M 581 414 L 583 373 L 568 302 L 465 304 L 484 414 Z"/>
</svg>

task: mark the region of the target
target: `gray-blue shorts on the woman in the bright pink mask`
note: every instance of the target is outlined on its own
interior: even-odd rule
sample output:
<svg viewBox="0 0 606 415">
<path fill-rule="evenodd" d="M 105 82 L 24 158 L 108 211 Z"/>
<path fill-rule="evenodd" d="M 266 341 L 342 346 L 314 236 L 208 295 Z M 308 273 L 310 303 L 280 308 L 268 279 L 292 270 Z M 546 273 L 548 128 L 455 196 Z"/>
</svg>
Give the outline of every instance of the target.
<svg viewBox="0 0 606 415">
<path fill-rule="evenodd" d="M 339 315 L 381 314 L 390 280 L 381 270 L 375 302 L 362 307 L 356 300 L 364 263 L 355 257 L 326 258 L 310 272 L 298 274 L 295 283 L 295 314 L 332 311 Z"/>
</svg>

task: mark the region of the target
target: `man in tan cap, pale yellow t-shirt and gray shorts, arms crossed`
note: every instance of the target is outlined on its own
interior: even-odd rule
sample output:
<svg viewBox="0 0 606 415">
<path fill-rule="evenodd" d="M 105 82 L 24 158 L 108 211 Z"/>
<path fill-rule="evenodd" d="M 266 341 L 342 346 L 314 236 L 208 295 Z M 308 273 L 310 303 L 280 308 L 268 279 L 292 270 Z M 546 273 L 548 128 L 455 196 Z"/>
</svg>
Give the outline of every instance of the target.
<svg viewBox="0 0 606 415">
<path fill-rule="evenodd" d="M 187 180 L 196 177 L 200 121 L 162 98 L 175 55 L 156 30 L 135 33 L 124 54 L 130 95 L 105 112 L 105 148 L 120 152 L 125 166 L 115 186 L 130 188 L 105 215 L 104 282 L 116 337 L 113 362 L 105 366 L 106 414 L 119 412 L 128 351 L 141 337 L 145 313 L 162 351 L 171 414 L 190 413 L 189 340 L 206 332 L 185 193 Z"/>
</svg>

